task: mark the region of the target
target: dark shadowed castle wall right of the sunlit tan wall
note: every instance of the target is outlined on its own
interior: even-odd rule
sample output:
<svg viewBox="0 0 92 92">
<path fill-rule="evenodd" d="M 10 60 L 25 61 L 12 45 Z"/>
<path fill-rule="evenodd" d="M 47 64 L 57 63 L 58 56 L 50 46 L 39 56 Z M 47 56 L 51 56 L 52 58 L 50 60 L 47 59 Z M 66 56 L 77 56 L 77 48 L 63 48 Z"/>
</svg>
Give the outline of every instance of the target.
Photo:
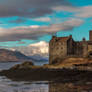
<svg viewBox="0 0 92 92">
<path fill-rule="evenodd" d="M 73 39 L 69 39 L 67 42 L 67 56 L 72 57 L 82 57 L 83 56 L 83 50 L 86 51 L 86 44 L 82 42 L 75 42 Z M 86 53 L 86 52 L 85 52 Z"/>
</svg>

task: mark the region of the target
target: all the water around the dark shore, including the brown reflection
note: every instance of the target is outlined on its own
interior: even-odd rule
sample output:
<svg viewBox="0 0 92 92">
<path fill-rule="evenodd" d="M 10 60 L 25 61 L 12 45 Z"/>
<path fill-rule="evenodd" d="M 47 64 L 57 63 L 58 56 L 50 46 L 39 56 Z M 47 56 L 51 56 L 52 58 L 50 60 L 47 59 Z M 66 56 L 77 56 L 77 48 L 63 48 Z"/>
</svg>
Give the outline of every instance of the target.
<svg viewBox="0 0 92 92">
<path fill-rule="evenodd" d="M 20 63 L 20 62 L 19 62 Z M 19 63 L 0 63 L 0 70 L 9 69 L 15 64 Z M 43 65 L 48 62 L 35 62 L 35 65 Z M 76 83 L 75 83 L 76 84 Z M 92 92 L 92 83 L 86 84 L 72 84 L 72 83 L 52 83 L 44 81 L 34 82 L 16 82 L 5 76 L 0 76 L 0 92 Z"/>
</svg>

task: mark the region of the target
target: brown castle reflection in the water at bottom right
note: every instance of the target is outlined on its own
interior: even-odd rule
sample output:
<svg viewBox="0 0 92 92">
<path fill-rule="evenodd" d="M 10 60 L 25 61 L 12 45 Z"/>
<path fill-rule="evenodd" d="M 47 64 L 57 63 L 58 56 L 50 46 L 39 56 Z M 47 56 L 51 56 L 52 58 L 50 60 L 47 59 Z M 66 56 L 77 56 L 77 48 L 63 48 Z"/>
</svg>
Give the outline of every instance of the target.
<svg viewBox="0 0 92 92">
<path fill-rule="evenodd" d="M 92 84 L 51 83 L 48 92 L 92 92 Z"/>
</svg>

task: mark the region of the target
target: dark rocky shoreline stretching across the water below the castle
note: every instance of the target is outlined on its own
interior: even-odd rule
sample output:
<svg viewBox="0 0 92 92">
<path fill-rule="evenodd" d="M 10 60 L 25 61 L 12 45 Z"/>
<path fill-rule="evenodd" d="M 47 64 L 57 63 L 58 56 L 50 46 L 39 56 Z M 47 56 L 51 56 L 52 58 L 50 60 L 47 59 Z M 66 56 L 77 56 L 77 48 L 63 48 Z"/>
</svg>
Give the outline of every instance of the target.
<svg viewBox="0 0 92 92">
<path fill-rule="evenodd" d="M 50 66 L 34 66 L 32 62 L 24 62 L 9 70 L 2 70 L 0 76 L 16 81 L 92 82 L 92 71 Z"/>
</svg>

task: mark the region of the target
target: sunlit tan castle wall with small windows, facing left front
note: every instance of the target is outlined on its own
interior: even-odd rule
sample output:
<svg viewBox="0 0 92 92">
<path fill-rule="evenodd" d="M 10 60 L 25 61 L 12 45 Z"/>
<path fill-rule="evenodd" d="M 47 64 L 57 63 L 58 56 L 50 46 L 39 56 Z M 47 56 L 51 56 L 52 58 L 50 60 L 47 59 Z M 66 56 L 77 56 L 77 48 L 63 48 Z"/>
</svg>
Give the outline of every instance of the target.
<svg viewBox="0 0 92 92">
<path fill-rule="evenodd" d="M 49 60 L 50 64 L 61 60 L 67 56 L 67 43 L 66 42 L 54 42 L 49 44 Z"/>
</svg>

